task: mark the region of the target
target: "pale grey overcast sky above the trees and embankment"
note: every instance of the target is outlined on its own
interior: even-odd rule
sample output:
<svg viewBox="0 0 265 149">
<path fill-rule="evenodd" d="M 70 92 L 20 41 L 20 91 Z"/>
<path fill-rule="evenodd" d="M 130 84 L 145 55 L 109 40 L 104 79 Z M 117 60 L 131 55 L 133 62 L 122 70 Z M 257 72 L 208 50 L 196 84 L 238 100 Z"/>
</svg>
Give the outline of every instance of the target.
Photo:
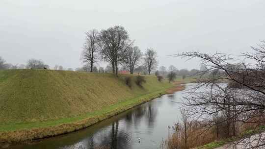
<svg viewBox="0 0 265 149">
<path fill-rule="evenodd" d="M 124 26 L 159 65 L 199 68 L 167 55 L 200 50 L 237 54 L 265 40 L 265 0 L 0 0 L 0 56 L 81 66 L 84 32 Z"/>
</svg>

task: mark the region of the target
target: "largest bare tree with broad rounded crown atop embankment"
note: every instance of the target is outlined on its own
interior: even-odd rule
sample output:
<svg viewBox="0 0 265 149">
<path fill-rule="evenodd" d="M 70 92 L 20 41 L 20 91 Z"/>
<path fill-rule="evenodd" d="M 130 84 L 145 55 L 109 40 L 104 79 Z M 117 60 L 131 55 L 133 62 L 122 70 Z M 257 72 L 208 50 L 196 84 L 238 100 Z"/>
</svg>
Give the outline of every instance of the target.
<svg viewBox="0 0 265 149">
<path fill-rule="evenodd" d="M 132 46 L 128 32 L 123 26 L 109 27 L 99 35 L 100 53 L 112 66 L 112 72 L 118 75 L 118 65 L 124 60 L 126 50 Z"/>
</svg>

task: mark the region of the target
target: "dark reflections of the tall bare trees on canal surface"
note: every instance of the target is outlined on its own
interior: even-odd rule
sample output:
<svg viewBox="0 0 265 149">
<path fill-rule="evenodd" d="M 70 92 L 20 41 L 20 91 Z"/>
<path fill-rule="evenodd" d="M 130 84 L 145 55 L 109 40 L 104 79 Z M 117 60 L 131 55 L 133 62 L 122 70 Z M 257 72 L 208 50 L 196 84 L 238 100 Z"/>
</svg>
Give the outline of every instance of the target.
<svg viewBox="0 0 265 149">
<path fill-rule="evenodd" d="M 129 127 L 133 125 L 134 128 L 137 129 L 142 119 L 145 118 L 148 128 L 154 128 L 157 114 L 158 110 L 152 103 L 146 103 L 145 105 L 136 107 L 132 112 L 129 112 L 124 119 L 112 123 L 108 130 L 109 133 L 97 139 L 99 141 L 97 146 L 108 146 L 110 149 L 130 149 L 132 142 L 137 141 L 138 138 L 131 138 L 131 129 Z M 121 124 L 119 122 L 121 122 Z"/>
</svg>

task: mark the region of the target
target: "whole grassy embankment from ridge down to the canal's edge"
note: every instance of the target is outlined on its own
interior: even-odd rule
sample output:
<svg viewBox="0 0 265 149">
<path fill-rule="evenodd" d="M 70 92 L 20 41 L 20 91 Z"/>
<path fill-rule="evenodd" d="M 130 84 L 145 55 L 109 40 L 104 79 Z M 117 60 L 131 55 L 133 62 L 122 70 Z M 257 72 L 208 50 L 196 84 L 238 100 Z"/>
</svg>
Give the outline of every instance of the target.
<svg viewBox="0 0 265 149">
<path fill-rule="evenodd" d="M 112 74 L 52 70 L 0 71 L 0 143 L 79 130 L 172 88 L 156 76 L 132 87 Z"/>
</svg>

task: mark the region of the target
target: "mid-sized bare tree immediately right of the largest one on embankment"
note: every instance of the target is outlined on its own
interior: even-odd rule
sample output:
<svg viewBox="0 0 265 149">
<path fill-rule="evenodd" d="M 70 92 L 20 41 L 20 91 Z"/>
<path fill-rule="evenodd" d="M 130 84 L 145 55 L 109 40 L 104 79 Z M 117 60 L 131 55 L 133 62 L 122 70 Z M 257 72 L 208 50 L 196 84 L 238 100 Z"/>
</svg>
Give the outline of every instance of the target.
<svg viewBox="0 0 265 149">
<path fill-rule="evenodd" d="M 138 63 L 142 57 L 141 50 L 135 46 L 126 50 L 123 62 L 130 69 L 130 74 L 133 74 L 134 67 L 138 66 Z"/>
</svg>

